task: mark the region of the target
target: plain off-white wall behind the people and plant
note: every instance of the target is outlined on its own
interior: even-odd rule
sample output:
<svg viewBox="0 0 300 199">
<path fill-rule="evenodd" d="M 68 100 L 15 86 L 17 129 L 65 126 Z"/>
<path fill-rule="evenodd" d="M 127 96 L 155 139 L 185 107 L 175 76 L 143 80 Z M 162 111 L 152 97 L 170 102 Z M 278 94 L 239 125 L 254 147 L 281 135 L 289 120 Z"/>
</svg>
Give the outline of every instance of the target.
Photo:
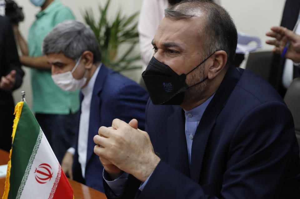
<svg viewBox="0 0 300 199">
<path fill-rule="evenodd" d="M 16 0 L 23 7 L 25 13 L 25 21 L 20 24 L 20 31 L 27 38 L 28 30 L 31 23 L 35 19 L 35 13 L 39 8 L 34 7 L 29 0 Z M 68 5 L 76 18 L 83 21 L 83 11 L 86 8 L 92 8 L 93 13 L 98 17 L 98 5 L 105 4 L 106 0 L 61 0 L 65 5 Z M 265 33 L 271 26 L 280 24 L 284 0 L 221 0 L 222 6 L 231 14 L 237 30 L 249 35 L 258 36 L 261 38 L 263 46 L 261 50 L 271 50 L 272 47 L 264 43 L 267 39 Z M 140 9 L 142 0 L 112 0 L 109 8 L 109 16 L 114 16 L 118 8 L 122 7 L 124 14 L 132 14 Z M 20 89 L 14 92 L 15 101 L 20 99 L 21 90 L 26 91 L 26 100 L 28 105 L 32 106 L 32 91 L 30 85 L 29 70 L 25 67 L 26 75 L 23 85 Z M 138 81 L 141 71 L 135 73 L 129 72 L 129 75 L 134 80 Z"/>
</svg>

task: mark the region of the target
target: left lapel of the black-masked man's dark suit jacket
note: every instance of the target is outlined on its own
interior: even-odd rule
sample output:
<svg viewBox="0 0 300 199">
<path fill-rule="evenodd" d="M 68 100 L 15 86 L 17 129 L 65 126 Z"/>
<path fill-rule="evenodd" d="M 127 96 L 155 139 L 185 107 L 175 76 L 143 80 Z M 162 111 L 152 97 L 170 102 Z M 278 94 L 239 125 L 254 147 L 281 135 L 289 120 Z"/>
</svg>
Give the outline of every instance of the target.
<svg viewBox="0 0 300 199">
<path fill-rule="evenodd" d="M 168 117 L 168 162 L 173 168 L 189 177 L 185 117 L 181 107 L 173 107 L 175 111 Z"/>
</svg>

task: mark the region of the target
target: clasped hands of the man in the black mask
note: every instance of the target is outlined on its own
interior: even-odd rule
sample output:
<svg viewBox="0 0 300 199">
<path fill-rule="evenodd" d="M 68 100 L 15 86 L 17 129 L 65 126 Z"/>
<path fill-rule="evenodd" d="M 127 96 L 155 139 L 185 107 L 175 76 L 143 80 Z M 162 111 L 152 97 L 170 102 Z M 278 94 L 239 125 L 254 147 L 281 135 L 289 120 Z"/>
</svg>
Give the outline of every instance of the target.
<svg viewBox="0 0 300 199">
<path fill-rule="evenodd" d="M 111 180 L 125 171 L 145 182 L 160 161 L 148 133 L 138 129 L 136 119 L 128 124 L 114 119 L 111 127 L 101 126 L 98 134 L 94 136 L 97 144 L 94 153 L 99 156 Z"/>
</svg>

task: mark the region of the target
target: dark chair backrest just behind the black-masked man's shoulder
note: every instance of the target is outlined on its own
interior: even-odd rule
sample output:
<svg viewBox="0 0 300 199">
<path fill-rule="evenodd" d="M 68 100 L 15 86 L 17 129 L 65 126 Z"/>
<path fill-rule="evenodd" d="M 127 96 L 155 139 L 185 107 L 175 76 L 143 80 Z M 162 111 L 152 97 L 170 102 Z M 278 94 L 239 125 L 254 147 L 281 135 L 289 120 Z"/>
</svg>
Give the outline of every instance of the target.
<svg viewBox="0 0 300 199">
<path fill-rule="evenodd" d="M 268 81 L 271 63 L 271 51 L 253 52 L 249 53 L 246 69 L 253 71 Z"/>
</svg>

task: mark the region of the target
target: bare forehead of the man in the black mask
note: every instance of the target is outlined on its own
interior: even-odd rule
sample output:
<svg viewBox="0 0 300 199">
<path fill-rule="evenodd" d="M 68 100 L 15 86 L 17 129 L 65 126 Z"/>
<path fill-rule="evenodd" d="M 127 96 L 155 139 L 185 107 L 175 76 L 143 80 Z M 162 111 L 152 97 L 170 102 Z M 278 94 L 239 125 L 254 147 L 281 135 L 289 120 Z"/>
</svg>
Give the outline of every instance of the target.
<svg viewBox="0 0 300 199">
<path fill-rule="evenodd" d="M 183 47 L 197 47 L 202 42 L 203 17 L 190 20 L 171 20 L 167 17 L 160 22 L 153 42 L 156 45 L 165 42 L 176 42 Z"/>
</svg>

